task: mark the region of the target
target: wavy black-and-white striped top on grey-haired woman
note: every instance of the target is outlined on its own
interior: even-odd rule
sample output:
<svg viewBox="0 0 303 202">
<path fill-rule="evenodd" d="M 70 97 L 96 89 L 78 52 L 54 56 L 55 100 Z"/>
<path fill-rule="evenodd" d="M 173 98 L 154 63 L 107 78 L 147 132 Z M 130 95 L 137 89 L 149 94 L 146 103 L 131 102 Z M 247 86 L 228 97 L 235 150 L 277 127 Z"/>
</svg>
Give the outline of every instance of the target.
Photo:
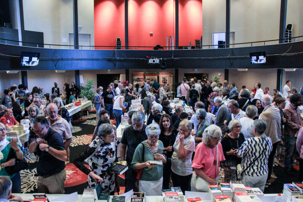
<svg viewBox="0 0 303 202">
<path fill-rule="evenodd" d="M 242 157 L 242 169 L 244 174 L 257 177 L 268 174 L 268 156 L 272 151 L 270 137 L 265 139 L 261 137 L 248 138 L 238 149 L 238 155 Z M 253 163 L 252 163 L 253 162 Z M 251 165 L 250 165 L 251 164 Z"/>
</svg>

